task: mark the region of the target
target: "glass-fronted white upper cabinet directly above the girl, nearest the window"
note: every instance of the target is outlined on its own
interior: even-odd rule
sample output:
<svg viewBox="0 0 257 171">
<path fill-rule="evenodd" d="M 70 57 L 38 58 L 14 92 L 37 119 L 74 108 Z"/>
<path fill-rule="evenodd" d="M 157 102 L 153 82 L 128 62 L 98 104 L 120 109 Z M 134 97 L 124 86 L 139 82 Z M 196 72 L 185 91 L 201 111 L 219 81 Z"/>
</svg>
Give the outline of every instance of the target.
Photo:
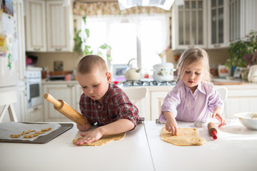
<svg viewBox="0 0 257 171">
<path fill-rule="evenodd" d="M 172 48 L 206 47 L 206 1 L 185 0 L 183 6 L 172 6 Z"/>
</svg>

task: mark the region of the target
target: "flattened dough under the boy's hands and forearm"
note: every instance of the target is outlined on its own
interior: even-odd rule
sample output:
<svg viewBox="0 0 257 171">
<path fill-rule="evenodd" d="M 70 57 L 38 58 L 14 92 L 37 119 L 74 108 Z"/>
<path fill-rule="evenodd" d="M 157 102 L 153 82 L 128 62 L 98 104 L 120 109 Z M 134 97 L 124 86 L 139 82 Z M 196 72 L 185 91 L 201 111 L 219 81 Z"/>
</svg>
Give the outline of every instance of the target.
<svg viewBox="0 0 257 171">
<path fill-rule="evenodd" d="M 100 138 L 97 141 L 91 142 L 91 143 L 86 143 L 83 144 L 81 146 L 101 146 L 101 145 L 105 145 L 108 142 L 111 142 L 113 140 L 122 140 L 124 139 L 126 133 L 119 133 L 119 134 L 114 134 L 114 135 L 104 135 L 102 138 Z M 78 139 L 74 139 L 73 142 L 74 144 L 76 144 L 76 141 L 79 140 L 81 138 Z"/>
</svg>

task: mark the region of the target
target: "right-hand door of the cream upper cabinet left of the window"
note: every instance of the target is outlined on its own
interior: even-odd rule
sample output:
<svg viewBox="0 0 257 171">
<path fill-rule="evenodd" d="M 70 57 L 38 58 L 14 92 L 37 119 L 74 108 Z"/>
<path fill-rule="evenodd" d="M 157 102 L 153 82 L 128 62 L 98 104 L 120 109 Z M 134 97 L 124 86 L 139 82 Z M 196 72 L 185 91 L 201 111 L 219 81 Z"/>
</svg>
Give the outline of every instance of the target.
<svg viewBox="0 0 257 171">
<path fill-rule="evenodd" d="M 71 6 L 64 1 L 46 1 L 47 51 L 72 51 Z"/>
</svg>

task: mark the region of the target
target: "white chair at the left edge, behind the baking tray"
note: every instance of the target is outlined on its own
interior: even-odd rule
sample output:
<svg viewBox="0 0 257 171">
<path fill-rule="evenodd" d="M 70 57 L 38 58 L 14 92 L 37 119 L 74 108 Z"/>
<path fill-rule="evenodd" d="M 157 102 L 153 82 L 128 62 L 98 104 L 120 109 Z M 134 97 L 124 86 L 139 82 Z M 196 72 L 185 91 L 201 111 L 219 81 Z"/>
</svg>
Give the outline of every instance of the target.
<svg viewBox="0 0 257 171">
<path fill-rule="evenodd" d="M 18 122 L 13 104 L 16 102 L 17 97 L 15 91 L 0 93 L 0 106 L 4 105 L 4 109 L 0 113 L 0 123 L 3 121 L 4 115 L 6 114 L 7 110 L 9 111 L 10 120 Z"/>
</svg>

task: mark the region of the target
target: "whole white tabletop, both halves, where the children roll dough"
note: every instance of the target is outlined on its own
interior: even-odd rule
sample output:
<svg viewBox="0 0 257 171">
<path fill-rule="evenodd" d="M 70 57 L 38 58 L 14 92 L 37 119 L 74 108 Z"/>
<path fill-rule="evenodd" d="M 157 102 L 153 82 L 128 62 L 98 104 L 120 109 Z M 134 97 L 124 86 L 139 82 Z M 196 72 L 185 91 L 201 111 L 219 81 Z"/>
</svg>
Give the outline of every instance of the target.
<svg viewBox="0 0 257 171">
<path fill-rule="evenodd" d="M 164 124 L 139 123 L 124 140 L 100 147 L 79 147 L 74 125 L 46 144 L 0 143 L 1 170 L 256 170 L 257 131 L 232 120 L 212 140 L 207 128 L 197 128 L 206 144 L 176 146 L 164 142 L 159 133 Z M 195 128 L 178 122 L 180 128 Z"/>
</svg>

